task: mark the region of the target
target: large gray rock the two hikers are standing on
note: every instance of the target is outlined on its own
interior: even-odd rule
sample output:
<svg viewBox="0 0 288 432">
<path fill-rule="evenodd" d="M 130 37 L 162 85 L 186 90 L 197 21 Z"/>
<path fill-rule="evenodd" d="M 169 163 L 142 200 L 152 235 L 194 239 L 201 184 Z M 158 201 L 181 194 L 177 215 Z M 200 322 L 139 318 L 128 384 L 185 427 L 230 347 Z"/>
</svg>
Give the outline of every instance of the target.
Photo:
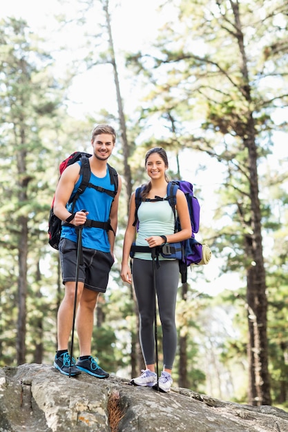
<svg viewBox="0 0 288 432">
<path fill-rule="evenodd" d="M 0 432 L 285 432 L 288 413 L 188 389 L 61 375 L 46 364 L 0 369 Z"/>
</svg>

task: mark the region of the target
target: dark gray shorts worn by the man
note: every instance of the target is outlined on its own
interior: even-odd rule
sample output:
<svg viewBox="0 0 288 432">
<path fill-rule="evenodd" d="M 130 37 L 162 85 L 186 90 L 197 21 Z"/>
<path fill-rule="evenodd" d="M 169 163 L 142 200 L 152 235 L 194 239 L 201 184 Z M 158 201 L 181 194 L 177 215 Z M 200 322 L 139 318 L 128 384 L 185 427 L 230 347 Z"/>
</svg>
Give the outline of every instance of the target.
<svg viewBox="0 0 288 432">
<path fill-rule="evenodd" d="M 95 249 L 82 248 L 83 264 L 79 266 L 79 282 L 84 282 L 84 287 L 99 293 L 105 293 L 109 272 L 113 266 L 113 256 L 110 252 L 97 251 Z M 68 239 L 61 239 L 59 243 L 59 255 L 63 283 L 75 282 L 77 264 L 77 243 Z"/>
</svg>

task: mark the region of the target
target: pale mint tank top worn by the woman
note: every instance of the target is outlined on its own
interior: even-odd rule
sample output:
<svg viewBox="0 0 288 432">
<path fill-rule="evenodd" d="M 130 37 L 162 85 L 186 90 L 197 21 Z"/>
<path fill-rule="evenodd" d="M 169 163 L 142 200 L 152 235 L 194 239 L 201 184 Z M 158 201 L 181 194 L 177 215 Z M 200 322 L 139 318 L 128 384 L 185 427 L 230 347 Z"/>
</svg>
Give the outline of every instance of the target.
<svg viewBox="0 0 288 432">
<path fill-rule="evenodd" d="M 168 201 L 144 201 L 137 211 L 139 230 L 137 246 L 148 246 L 147 237 L 151 235 L 170 235 L 174 233 L 175 219 Z M 152 259 L 150 253 L 135 252 L 135 258 Z M 164 259 L 161 255 L 159 259 Z"/>
</svg>

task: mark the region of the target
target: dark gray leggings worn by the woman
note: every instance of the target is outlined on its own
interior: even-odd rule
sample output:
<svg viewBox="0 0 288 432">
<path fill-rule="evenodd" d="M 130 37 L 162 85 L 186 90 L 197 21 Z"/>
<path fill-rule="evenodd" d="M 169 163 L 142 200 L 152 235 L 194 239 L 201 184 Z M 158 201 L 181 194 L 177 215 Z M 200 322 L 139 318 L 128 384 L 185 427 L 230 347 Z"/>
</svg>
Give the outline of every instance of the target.
<svg viewBox="0 0 288 432">
<path fill-rule="evenodd" d="M 145 364 L 155 363 L 155 292 L 153 288 L 153 263 L 133 259 L 133 282 L 140 316 L 140 344 Z M 177 348 L 175 306 L 179 283 L 177 259 L 161 261 L 155 266 L 156 292 L 163 333 L 164 368 L 172 369 Z"/>
</svg>

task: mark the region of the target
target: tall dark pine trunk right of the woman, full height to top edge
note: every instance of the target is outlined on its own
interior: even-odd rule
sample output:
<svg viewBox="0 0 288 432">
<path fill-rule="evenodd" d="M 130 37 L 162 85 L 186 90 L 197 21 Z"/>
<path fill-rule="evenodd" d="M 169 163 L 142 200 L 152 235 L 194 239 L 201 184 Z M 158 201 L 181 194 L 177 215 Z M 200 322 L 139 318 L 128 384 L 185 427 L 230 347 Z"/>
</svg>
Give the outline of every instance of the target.
<svg viewBox="0 0 288 432">
<path fill-rule="evenodd" d="M 233 10 L 236 37 L 240 50 L 242 86 L 241 91 L 247 106 L 251 106 L 251 88 L 247 55 L 244 48 L 244 35 L 240 22 L 238 1 L 230 1 Z M 249 328 L 249 403 L 270 405 L 270 383 L 268 372 L 267 346 L 267 297 L 266 275 L 263 262 L 261 210 L 259 201 L 256 130 L 253 113 L 247 110 L 247 124 L 242 131 L 244 147 L 248 150 L 249 197 L 251 202 L 251 235 L 245 239 L 247 257 L 251 264 L 247 268 L 247 307 Z"/>
</svg>

